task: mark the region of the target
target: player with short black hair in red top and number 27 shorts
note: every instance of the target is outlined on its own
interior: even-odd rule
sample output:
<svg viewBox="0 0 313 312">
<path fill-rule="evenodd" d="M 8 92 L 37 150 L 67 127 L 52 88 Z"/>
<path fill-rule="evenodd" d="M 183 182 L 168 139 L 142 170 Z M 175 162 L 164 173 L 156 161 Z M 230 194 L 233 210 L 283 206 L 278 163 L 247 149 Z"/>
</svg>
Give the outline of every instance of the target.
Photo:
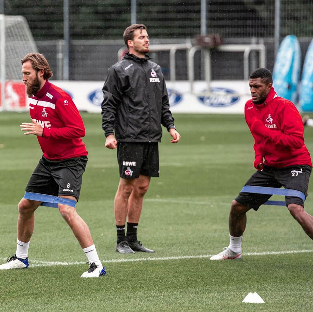
<svg viewBox="0 0 313 312">
<path fill-rule="evenodd" d="M 252 100 L 245 104 L 244 115 L 254 138 L 257 171 L 245 185 L 297 190 L 308 195 L 312 170 L 310 153 L 304 144 L 303 122 L 295 105 L 279 97 L 273 86 L 271 72 L 254 70 L 249 77 Z M 257 211 L 271 195 L 240 192 L 233 200 L 229 214 L 228 247 L 211 260 L 241 258 L 241 240 L 251 208 Z M 313 239 L 313 217 L 304 210 L 299 197 L 286 196 L 290 214 Z"/>
</svg>

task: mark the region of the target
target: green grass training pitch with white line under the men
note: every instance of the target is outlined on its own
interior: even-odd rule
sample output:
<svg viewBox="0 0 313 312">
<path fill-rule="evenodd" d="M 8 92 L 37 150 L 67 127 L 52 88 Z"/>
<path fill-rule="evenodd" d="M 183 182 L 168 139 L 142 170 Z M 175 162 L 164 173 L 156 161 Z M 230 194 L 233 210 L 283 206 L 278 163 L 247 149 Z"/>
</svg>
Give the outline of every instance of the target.
<svg viewBox="0 0 313 312">
<path fill-rule="evenodd" d="M 82 279 L 86 257 L 54 208 L 39 207 L 26 270 L 0 271 L 0 310 L 312 311 L 313 245 L 287 208 L 249 211 L 243 258 L 210 261 L 228 246 L 231 201 L 254 172 L 243 115 L 175 115 L 182 135 L 160 144 L 160 177 L 145 196 L 138 238 L 154 254 L 115 252 L 116 150 L 104 147 L 101 116 L 83 114 L 89 161 L 78 213 L 90 227 L 107 276 Z M 16 250 L 17 204 L 41 157 L 24 136 L 28 113 L 0 114 L 0 260 Z M 313 152 L 313 128 L 305 128 Z M 278 197 L 276 197 L 278 199 Z M 313 214 L 313 184 L 305 202 Z M 242 303 L 257 292 L 264 304 Z"/>
</svg>

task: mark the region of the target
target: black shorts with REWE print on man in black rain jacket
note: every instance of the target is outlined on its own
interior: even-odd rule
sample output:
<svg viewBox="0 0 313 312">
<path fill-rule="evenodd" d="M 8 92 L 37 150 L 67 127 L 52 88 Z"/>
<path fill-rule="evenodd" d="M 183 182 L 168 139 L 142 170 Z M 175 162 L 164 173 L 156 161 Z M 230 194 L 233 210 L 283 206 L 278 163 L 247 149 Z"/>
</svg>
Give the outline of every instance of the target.
<svg viewBox="0 0 313 312">
<path fill-rule="evenodd" d="M 136 179 L 140 174 L 158 177 L 158 143 L 118 142 L 117 162 L 120 167 L 120 177 L 123 179 Z"/>
</svg>

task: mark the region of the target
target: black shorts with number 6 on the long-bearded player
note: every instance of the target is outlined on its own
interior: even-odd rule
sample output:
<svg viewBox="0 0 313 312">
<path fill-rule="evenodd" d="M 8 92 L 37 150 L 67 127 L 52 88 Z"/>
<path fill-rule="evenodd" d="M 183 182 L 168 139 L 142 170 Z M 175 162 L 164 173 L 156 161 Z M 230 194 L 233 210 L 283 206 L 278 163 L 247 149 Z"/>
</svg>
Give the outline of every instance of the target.
<svg viewBox="0 0 313 312">
<path fill-rule="evenodd" d="M 26 192 L 68 195 L 78 200 L 87 161 L 87 156 L 60 161 L 51 161 L 43 156 L 27 183 Z"/>
</svg>

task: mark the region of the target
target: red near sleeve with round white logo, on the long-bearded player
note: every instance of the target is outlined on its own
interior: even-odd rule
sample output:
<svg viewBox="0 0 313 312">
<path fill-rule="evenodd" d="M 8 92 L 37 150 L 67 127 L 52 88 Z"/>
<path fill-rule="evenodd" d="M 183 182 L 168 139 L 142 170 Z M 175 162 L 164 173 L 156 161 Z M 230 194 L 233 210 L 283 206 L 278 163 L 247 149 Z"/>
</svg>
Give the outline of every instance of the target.
<svg viewBox="0 0 313 312">
<path fill-rule="evenodd" d="M 64 126 L 60 128 L 44 128 L 42 134 L 44 138 L 72 139 L 85 136 L 83 119 L 70 97 L 61 97 L 55 103 L 55 111 L 64 123 Z"/>
</svg>

